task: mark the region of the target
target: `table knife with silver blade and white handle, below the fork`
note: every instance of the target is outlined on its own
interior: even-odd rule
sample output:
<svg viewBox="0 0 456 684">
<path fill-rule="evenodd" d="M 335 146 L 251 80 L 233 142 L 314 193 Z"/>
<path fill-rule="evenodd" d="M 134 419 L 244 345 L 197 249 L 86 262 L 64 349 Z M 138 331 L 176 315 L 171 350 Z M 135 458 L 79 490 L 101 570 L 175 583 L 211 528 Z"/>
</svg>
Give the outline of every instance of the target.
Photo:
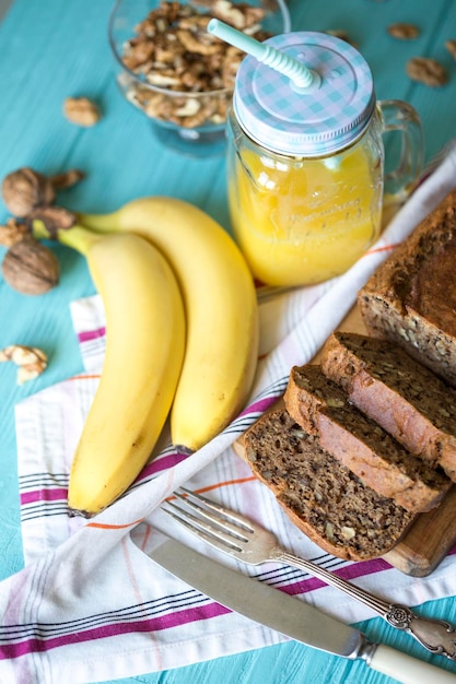
<svg viewBox="0 0 456 684">
<path fill-rule="evenodd" d="M 354 627 L 174 539 L 166 538 L 148 555 L 175 577 L 218 603 L 306 646 L 349 660 L 361 659 L 372 670 L 402 684 L 456 683 L 456 674 L 389 646 L 373 644 Z"/>
</svg>

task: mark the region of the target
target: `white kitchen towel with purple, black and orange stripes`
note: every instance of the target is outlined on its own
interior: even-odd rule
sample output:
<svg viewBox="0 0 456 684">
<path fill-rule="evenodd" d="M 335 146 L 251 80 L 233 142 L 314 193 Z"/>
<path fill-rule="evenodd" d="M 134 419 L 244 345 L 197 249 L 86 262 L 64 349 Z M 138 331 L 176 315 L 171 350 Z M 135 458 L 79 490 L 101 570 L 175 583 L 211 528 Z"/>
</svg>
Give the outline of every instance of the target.
<svg viewBox="0 0 456 684">
<path fill-rule="evenodd" d="M 456 184 L 456 150 L 416 191 L 375 247 L 344 275 L 264 299 L 261 351 L 248 405 L 215 439 L 190 457 L 176 452 L 166 429 L 155 457 L 128 493 L 95 518 L 67 516 L 74 446 L 97 386 L 104 354 L 98 297 L 72 306 L 85 373 L 16 406 L 17 468 L 25 568 L 0 583 L 0 681 L 13 684 L 93 682 L 201 662 L 277 644 L 284 637 L 234 614 L 155 566 L 147 552 L 168 531 L 188 535 L 160 511 L 180 484 L 210 492 L 277 533 L 284 546 L 361 586 L 410 605 L 454 593 L 456 558 L 431 578 L 411 578 L 382 559 L 348 563 L 309 542 L 282 514 L 232 449 L 234 440 L 287 386 L 352 307 L 358 290 L 395 245 Z M 369 609 L 301 570 L 269 563 L 221 563 L 311 601 L 346 622 Z"/>
</svg>

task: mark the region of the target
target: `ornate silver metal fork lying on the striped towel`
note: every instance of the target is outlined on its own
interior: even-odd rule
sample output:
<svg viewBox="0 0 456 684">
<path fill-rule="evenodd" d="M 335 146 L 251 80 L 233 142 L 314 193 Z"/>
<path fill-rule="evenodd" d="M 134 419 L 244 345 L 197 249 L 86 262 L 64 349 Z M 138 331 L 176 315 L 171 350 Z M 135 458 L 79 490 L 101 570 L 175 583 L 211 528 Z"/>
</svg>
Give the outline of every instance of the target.
<svg viewBox="0 0 456 684">
<path fill-rule="evenodd" d="M 409 633 L 429 651 L 456 660 L 455 628 L 449 623 L 419 617 L 405 605 L 378 599 L 312 561 L 300 558 L 284 551 L 272 532 L 241 514 L 229 510 L 214 500 L 185 487 L 180 487 L 180 492 L 182 494 L 174 493 L 180 504 L 165 502 L 162 510 L 214 549 L 248 565 L 261 565 L 272 561 L 306 570 L 326 585 L 364 603 L 396 629 Z"/>
</svg>

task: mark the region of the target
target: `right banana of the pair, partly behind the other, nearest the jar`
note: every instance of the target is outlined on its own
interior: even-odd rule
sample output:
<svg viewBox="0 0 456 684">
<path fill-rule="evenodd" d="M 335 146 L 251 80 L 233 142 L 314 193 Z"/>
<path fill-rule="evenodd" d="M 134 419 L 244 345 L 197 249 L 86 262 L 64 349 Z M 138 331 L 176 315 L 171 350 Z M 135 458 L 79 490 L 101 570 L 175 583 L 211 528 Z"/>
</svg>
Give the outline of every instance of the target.
<svg viewBox="0 0 456 684">
<path fill-rule="evenodd" d="M 110 214 L 80 214 L 100 232 L 133 232 L 171 263 L 184 297 L 187 349 L 171 412 L 172 439 L 189 451 L 203 446 L 245 404 L 258 356 L 253 276 L 230 235 L 190 203 L 149 197 Z"/>
</svg>

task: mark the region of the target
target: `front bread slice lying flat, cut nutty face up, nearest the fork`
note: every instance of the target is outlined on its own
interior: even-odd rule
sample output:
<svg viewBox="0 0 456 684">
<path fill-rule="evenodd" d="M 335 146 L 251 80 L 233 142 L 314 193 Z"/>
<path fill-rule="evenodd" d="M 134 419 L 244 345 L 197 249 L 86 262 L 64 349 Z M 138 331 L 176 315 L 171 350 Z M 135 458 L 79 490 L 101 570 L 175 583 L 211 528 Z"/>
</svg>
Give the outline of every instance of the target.
<svg viewBox="0 0 456 684">
<path fill-rule="evenodd" d="M 284 410 L 264 415 L 245 434 L 253 473 L 292 522 L 340 558 L 365 561 L 395 546 L 413 515 L 366 487 Z"/>
</svg>

